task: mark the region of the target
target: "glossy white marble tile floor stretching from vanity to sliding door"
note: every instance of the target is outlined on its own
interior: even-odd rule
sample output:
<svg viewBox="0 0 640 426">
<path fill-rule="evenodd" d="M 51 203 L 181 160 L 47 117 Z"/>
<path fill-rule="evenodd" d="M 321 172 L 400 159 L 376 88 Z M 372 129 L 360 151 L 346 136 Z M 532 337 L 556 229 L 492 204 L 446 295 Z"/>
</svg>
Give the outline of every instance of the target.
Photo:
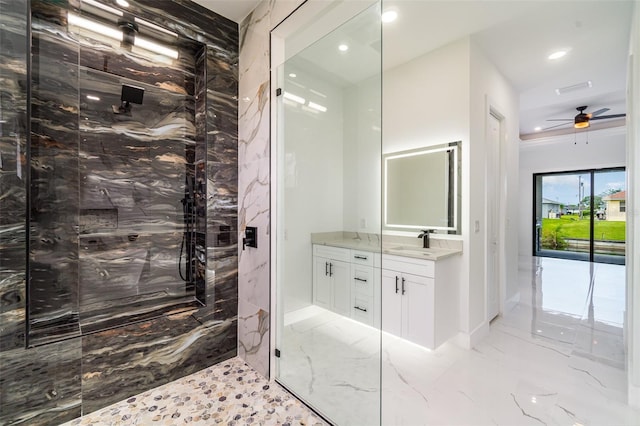
<svg viewBox="0 0 640 426">
<path fill-rule="evenodd" d="M 340 425 L 639 425 L 626 403 L 624 267 L 526 259 L 519 288 L 471 351 L 306 308 L 285 318 L 279 379 Z"/>
</svg>

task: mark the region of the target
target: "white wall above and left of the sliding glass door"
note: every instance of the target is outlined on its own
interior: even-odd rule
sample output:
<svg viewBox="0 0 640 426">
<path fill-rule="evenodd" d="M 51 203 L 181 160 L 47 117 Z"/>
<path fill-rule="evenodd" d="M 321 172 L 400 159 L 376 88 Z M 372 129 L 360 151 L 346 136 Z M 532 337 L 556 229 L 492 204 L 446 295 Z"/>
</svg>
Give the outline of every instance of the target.
<svg viewBox="0 0 640 426">
<path fill-rule="evenodd" d="M 532 255 L 533 174 L 624 166 L 625 138 L 624 128 L 619 127 L 520 143 L 517 229 L 521 256 Z"/>
</svg>

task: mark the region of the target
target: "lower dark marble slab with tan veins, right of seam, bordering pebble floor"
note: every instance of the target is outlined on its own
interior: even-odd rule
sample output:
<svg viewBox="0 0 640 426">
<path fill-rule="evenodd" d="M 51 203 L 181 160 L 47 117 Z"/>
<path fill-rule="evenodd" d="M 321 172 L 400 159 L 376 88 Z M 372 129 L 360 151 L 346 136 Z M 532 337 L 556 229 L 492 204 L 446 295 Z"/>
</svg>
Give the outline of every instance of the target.
<svg viewBox="0 0 640 426">
<path fill-rule="evenodd" d="M 90 413 L 235 354 L 235 319 L 168 315 L 82 338 L 82 408 Z"/>
</svg>

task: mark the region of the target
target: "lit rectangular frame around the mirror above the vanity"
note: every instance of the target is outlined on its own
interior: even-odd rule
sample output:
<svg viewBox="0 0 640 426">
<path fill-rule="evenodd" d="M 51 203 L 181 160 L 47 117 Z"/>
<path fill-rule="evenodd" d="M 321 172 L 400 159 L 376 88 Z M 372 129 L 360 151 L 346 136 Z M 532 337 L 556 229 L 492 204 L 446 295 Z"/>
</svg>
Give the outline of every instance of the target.
<svg viewBox="0 0 640 426">
<path fill-rule="evenodd" d="M 385 231 L 413 231 L 420 232 L 423 229 L 433 229 L 438 231 L 447 231 L 449 234 L 460 234 L 460 196 L 461 196 L 461 141 L 455 141 L 440 145 L 431 145 L 423 148 L 408 150 L 408 151 L 398 151 L 398 152 L 390 152 L 383 155 L 382 159 L 382 179 L 383 179 L 383 187 L 382 187 L 382 203 L 383 203 L 383 211 L 382 211 L 382 227 Z M 388 217 L 388 207 L 387 207 L 387 186 L 389 176 L 387 174 L 388 162 L 390 160 L 404 158 L 404 157 L 413 157 L 418 155 L 427 155 L 430 153 L 443 152 L 448 151 L 450 153 L 449 157 L 449 182 L 452 184 L 449 185 L 449 202 L 448 202 L 448 226 L 434 225 L 434 224 L 392 224 L 387 220 Z"/>
</svg>

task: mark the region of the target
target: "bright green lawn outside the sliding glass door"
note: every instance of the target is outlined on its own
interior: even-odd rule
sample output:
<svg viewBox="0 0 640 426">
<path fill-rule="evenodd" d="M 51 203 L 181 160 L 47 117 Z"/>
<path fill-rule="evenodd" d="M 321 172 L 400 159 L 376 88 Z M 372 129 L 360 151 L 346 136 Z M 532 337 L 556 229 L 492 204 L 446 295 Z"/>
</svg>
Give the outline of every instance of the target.
<svg viewBox="0 0 640 426">
<path fill-rule="evenodd" d="M 595 240 L 624 241 L 626 222 L 608 222 L 597 220 L 594 224 Z M 580 220 L 574 215 L 565 215 L 560 219 L 542 219 L 543 235 L 555 233 L 563 238 L 589 239 L 589 219 Z"/>
</svg>

